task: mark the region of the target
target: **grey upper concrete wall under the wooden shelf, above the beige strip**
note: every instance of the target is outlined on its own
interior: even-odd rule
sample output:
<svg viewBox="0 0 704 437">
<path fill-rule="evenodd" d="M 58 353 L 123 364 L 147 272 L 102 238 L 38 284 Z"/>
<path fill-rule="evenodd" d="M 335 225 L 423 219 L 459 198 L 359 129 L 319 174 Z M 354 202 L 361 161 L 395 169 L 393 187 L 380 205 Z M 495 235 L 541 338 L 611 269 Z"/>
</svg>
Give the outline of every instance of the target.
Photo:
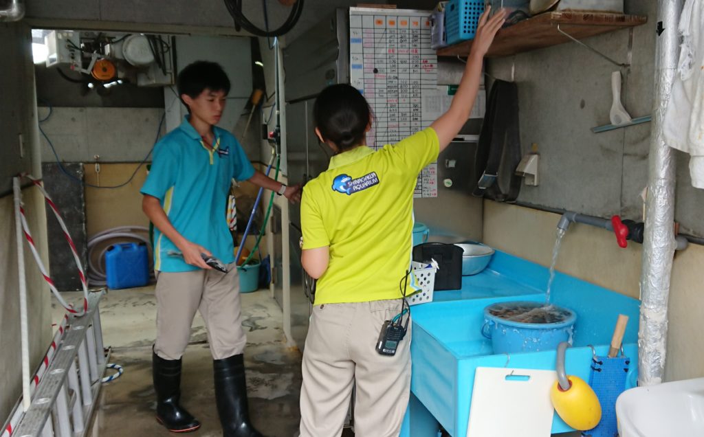
<svg viewBox="0 0 704 437">
<path fill-rule="evenodd" d="M 584 43 L 624 69 L 622 103 L 632 117 L 653 110 L 657 0 L 625 0 L 627 13 L 648 22 L 584 39 Z M 629 32 L 633 32 L 629 50 Z M 516 56 L 492 58 L 489 72 L 508 79 L 515 70 L 519 90 L 520 129 L 524 153 L 536 143 L 541 154 L 540 185 L 523 186 L 518 200 L 550 208 L 642 220 L 641 191 L 648 179 L 650 123 L 594 134 L 608 125 L 612 103 L 611 73 L 619 70 L 574 42 Z M 691 186 L 689 156 L 676 152 L 675 220 L 681 232 L 704 236 L 701 206 L 704 190 Z"/>
</svg>

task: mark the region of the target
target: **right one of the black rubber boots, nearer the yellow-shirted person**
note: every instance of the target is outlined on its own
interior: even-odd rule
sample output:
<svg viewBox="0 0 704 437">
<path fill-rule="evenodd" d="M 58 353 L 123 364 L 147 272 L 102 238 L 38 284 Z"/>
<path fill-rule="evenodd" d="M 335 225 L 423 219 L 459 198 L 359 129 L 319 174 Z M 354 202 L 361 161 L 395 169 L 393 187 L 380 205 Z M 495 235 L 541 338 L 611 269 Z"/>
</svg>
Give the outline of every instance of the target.
<svg viewBox="0 0 704 437">
<path fill-rule="evenodd" d="M 215 401 L 224 437 L 264 437 L 249 422 L 244 355 L 213 360 Z"/>
</svg>

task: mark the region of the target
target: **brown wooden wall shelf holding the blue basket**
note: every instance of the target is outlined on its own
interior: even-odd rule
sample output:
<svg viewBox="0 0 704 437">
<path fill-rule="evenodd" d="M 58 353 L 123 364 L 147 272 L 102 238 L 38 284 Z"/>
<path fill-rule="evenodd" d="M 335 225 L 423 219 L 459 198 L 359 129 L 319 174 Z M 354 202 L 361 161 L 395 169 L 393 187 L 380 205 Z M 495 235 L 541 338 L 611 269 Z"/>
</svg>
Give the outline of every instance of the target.
<svg viewBox="0 0 704 437">
<path fill-rule="evenodd" d="M 613 32 L 642 25 L 648 21 L 646 15 L 624 15 L 620 13 L 585 12 L 546 12 L 513 26 L 498 31 L 494 43 L 486 56 L 515 55 L 524 51 L 542 49 L 569 42 L 570 39 L 558 32 L 560 29 L 576 39 Z M 439 49 L 438 56 L 467 56 L 472 48 L 472 40 Z"/>
</svg>

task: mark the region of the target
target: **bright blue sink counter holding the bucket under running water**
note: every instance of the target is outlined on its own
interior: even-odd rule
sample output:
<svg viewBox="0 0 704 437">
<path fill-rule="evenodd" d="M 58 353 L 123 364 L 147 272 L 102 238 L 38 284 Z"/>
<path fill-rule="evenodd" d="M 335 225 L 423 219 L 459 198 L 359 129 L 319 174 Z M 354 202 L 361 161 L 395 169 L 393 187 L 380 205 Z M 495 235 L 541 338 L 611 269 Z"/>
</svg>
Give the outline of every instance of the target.
<svg viewBox="0 0 704 437">
<path fill-rule="evenodd" d="M 412 399 L 402 436 L 436 437 L 432 430 L 439 423 L 451 436 L 465 437 L 477 367 L 555 369 L 554 350 L 494 355 L 491 341 L 480 332 L 484 308 L 491 303 L 545 300 L 548 275 L 545 267 L 496 251 L 484 272 L 463 277 L 462 289 L 435 291 L 431 303 L 412 308 Z M 631 358 L 627 388 L 635 385 L 639 300 L 558 272 L 551 303 L 577 313 L 566 371 L 585 381 L 592 357 L 589 345 L 606 355 L 617 316 L 629 316 L 623 348 Z M 555 414 L 552 431 L 573 429 Z"/>
</svg>

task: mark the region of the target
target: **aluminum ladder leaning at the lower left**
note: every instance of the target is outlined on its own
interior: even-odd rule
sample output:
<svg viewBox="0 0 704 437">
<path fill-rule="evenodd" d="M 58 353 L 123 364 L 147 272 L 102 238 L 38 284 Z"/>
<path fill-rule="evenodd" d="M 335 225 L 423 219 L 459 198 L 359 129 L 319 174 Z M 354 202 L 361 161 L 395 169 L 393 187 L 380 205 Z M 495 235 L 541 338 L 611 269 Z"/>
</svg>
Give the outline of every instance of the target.
<svg viewBox="0 0 704 437">
<path fill-rule="evenodd" d="M 100 324 L 99 303 L 104 293 L 89 293 L 88 312 L 69 319 L 68 329 L 13 437 L 87 435 L 110 355 L 103 350 Z"/>
</svg>

